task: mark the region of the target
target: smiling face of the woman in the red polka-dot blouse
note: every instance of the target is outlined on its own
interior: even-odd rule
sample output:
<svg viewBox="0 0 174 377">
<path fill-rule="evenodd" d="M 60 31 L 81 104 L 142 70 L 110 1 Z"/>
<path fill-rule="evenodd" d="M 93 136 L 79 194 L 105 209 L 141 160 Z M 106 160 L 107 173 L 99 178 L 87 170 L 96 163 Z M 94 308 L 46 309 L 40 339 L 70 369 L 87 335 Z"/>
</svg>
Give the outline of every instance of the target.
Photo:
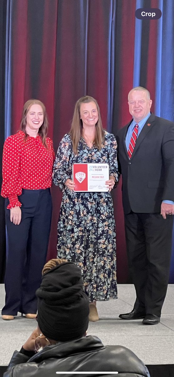
<svg viewBox="0 0 174 377">
<path fill-rule="evenodd" d="M 26 127 L 31 130 L 38 130 L 44 121 L 43 109 L 40 105 L 32 105 L 26 116 Z"/>
</svg>

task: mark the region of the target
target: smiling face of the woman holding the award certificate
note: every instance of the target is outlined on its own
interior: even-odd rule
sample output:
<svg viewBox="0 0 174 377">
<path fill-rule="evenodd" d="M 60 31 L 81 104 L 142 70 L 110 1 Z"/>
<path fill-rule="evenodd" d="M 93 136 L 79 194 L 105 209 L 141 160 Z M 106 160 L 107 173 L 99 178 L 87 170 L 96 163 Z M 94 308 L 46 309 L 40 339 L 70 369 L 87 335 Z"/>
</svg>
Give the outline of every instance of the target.
<svg viewBox="0 0 174 377">
<path fill-rule="evenodd" d="M 98 122 L 98 110 L 95 102 L 82 103 L 80 106 L 80 118 L 84 126 L 95 126 Z"/>
</svg>

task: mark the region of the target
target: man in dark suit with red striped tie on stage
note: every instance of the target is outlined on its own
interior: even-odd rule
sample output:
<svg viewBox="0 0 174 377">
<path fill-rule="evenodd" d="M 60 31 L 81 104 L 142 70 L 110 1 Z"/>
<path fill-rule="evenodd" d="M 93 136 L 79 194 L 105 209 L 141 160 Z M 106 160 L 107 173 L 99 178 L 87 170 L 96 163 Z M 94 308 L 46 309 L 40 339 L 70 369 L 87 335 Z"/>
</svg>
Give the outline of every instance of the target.
<svg viewBox="0 0 174 377">
<path fill-rule="evenodd" d="M 133 120 L 119 130 L 128 265 L 136 302 L 121 319 L 160 322 L 171 259 L 174 215 L 174 123 L 150 113 L 152 100 L 143 87 L 128 95 Z"/>
</svg>

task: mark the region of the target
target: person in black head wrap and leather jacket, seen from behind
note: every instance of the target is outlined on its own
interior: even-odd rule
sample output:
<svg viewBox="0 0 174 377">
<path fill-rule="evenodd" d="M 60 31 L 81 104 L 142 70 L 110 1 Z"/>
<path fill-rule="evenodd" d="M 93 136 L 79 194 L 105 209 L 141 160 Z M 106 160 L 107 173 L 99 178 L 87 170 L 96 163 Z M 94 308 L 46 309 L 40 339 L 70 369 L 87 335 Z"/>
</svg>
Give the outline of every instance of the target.
<svg viewBox="0 0 174 377">
<path fill-rule="evenodd" d="M 86 336 L 89 299 L 78 266 L 61 259 L 49 261 L 36 295 L 38 327 L 21 350 L 14 352 L 4 377 L 55 377 L 56 372 L 73 372 L 69 377 L 74 372 L 150 377 L 147 367 L 128 348 L 110 348 L 98 337 Z"/>
</svg>

